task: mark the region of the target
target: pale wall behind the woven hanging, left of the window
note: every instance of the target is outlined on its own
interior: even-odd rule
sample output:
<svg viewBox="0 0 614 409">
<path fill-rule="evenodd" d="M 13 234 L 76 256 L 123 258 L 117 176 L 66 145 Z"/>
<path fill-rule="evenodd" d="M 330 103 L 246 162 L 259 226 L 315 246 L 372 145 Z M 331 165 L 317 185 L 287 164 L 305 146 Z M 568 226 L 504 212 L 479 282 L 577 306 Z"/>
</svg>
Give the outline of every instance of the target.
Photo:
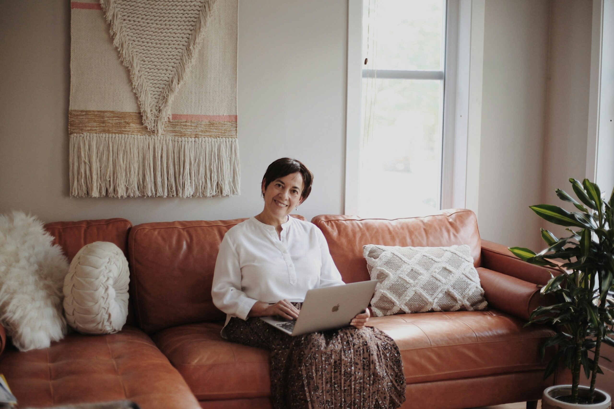
<svg viewBox="0 0 614 409">
<path fill-rule="evenodd" d="M 282 156 L 315 174 L 298 213 L 342 212 L 345 1 L 241 0 L 241 196 L 194 199 L 68 196 L 69 7 L 66 0 L 0 1 L 0 213 L 134 224 L 252 216 L 262 210 L 266 166 Z"/>
</svg>

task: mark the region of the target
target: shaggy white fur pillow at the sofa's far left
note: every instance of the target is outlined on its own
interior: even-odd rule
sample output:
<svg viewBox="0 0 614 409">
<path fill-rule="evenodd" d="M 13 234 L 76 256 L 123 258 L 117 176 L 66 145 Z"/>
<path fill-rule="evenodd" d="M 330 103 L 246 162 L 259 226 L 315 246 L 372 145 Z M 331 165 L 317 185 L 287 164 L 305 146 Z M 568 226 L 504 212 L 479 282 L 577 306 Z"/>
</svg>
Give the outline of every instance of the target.
<svg viewBox="0 0 614 409">
<path fill-rule="evenodd" d="M 47 348 L 66 334 L 68 260 L 52 242 L 36 217 L 0 215 L 0 323 L 21 351 Z"/>
</svg>

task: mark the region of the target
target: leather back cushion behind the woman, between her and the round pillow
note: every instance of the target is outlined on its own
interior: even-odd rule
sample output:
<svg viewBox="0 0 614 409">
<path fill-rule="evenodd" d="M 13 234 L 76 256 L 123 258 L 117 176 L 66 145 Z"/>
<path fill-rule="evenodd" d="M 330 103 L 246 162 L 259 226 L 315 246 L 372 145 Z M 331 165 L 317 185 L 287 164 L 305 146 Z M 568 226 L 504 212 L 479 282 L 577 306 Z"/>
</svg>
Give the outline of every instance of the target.
<svg viewBox="0 0 614 409">
<path fill-rule="evenodd" d="M 213 270 L 224 234 L 244 220 L 145 223 L 131 229 L 130 297 L 143 331 L 225 318 L 211 300 Z"/>
</svg>

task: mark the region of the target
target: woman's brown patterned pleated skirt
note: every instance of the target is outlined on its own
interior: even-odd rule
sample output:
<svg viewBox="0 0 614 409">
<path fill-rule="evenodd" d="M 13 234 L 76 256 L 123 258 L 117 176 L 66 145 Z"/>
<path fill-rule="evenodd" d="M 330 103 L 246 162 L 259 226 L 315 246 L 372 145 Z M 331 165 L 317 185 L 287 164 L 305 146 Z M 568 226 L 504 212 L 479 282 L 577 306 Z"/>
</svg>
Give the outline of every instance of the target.
<svg viewBox="0 0 614 409">
<path fill-rule="evenodd" d="M 225 332 L 232 342 L 271 351 L 274 409 L 398 408 L 405 402 L 400 351 L 377 328 L 292 337 L 262 319 L 233 317 Z"/>
</svg>

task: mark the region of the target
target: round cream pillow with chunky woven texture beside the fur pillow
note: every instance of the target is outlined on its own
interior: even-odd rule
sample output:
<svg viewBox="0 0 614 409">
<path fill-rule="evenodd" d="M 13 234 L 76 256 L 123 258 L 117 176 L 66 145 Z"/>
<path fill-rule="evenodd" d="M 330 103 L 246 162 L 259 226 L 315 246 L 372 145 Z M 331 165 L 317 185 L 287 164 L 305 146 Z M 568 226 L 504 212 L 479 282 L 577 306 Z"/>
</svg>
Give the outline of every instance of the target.
<svg viewBox="0 0 614 409">
<path fill-rule="evenodd" d="M 64 313 L 84 334 L 120 331 L 128 317 L 128 261 L 114 243 L 85 245 L 64 278 Z"/>
</svg>

